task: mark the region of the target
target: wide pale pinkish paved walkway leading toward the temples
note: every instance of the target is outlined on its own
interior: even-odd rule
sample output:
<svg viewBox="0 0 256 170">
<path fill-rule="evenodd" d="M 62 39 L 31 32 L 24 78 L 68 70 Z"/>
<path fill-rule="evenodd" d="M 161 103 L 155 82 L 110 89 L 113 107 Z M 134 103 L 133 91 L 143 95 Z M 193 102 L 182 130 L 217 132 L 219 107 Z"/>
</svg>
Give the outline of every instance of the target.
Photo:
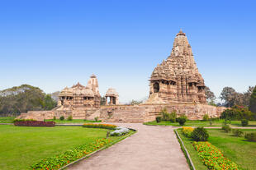
<svg viewBox="0 0 256 170">
<path fill-rule="evenodd" d="M 138 130 L 135 135 L 74 164 L 79 170 L 188 170 L 172 126 L 145 126 L 141 123 L 115 123 Z"/>
</svg>

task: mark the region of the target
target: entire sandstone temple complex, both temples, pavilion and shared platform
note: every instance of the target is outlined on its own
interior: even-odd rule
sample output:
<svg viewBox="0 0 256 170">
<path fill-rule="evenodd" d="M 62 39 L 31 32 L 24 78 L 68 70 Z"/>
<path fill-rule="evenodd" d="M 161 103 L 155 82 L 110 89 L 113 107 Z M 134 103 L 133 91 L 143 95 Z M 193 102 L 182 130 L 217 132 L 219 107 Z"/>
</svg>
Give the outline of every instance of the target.
<svg viewBox="0 0 256 170">
<path fill-rule="evenodd" d="M 139 105 L 119 103 L 115 89 L 99 93 L 97 77 L 92 75 L 86 86 L 77 83 L 59 93 L 58 106 L 50 111 L 29 111 L 18 118 L 36 120 L 53 117 L 93 120 L 102 122 L 149 122 L 166 108 L 191 120 L 200 120 L 205 114 L 220 117 L 225 108 L 206 103 L 205 83 L 197 69 L 191 45 L 182 30 L 176 34 L 170 56 L 154 68 L 149 79 L 149 99 Z M 104 101 L 102 101 L 104 99 Z M 101 102 L 102 101 L 102 102 Z"/>
</svg>

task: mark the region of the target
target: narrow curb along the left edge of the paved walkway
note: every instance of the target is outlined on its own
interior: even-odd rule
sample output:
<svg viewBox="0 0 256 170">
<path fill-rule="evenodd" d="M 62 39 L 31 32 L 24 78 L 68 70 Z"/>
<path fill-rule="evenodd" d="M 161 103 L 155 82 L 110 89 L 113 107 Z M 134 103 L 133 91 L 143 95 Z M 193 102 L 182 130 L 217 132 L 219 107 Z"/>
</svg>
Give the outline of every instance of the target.
<svg viewBox="0 0 256 170">
<path fill-rule="evenodd" d="M 87 158 L 91 157 L 93 154 L 97 154 L 98 152 L 100 152 L 100 151 L 102 151 L 102 150 L 104 150 L 104 149 L 107 149 L 108 147 L 111 147 L 112 145 L 115 145 L 117 142 L 120 142 L 121 140 L 125 140 L 127 137 L 130 137 L 130 136 L 134 135 L 134 134 L 137 132 L 137 130 L 135 130 L 135 129 L 131 129 L 131 128 L 128 128 L 128 129 L 130 129 L 130 131 L 133 131 L 133 132 L 131 132 L 131 133 L 128 134 L 127 136 L 121 137 L 121 138 L 118 139 L 118 140 L 112 141 L 110 144 L 105 145 L 105 146 L 102 147 L 101 149 L 95 150 L 95 151 L 92 152 L 91 154 L 85 155 L 83 158 L 78 159 L 78 160 L 75 160 L 75 161 L 73 161 L 72 163 L 69 163 L 69 164 L 65 165 L 64 167 L 59 168 L 58 170 L 64 170 L 65 168 L 69 168 L 69 167 L 72 166 L 74 163 L 78 163 L 79 161 L 81 161 L 81 160 L 83 160 L 83 159 L 87 159 Z"/>
</svg>

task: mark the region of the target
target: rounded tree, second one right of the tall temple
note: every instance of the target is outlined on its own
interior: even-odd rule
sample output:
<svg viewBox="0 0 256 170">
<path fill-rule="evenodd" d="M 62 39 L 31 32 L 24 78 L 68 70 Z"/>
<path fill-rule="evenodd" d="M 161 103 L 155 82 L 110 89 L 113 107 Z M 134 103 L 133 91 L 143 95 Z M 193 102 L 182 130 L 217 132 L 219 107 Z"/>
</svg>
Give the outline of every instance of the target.
<svg viewBox="0 0 256 170">
<path fill-rule="evenodd" d="M 223 88 L 220 99 L 225 100 L 225 105 L 227 107 L 232 107 L 235 104 L 235 90 L 232 87 Z"/>
</svg>

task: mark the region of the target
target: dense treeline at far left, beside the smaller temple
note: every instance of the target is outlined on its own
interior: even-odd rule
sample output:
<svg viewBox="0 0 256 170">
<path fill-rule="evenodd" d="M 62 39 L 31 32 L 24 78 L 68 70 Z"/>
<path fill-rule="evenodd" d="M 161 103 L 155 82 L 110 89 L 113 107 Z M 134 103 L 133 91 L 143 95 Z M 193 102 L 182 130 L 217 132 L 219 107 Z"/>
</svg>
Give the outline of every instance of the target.
<svg viewBox="0 0 256 170">
<path fill-rule="evenodd" d="M 50 110 L 57 106 L 55 96 L 31 85 L 21 85 L 0 91 L 0 115 L 17 116 L 32 110 Z"/>
</svg>

